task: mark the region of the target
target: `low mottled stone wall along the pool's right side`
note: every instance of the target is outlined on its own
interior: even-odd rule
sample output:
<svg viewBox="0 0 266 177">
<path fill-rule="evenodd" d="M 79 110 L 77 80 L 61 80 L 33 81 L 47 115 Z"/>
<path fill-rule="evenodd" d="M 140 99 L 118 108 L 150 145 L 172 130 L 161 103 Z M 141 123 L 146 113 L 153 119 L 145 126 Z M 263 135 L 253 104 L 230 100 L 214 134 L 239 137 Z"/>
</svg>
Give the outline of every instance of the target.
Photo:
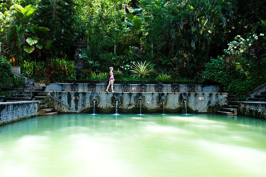
<svg viewBox="0 0 266 177">
<path fill-rule="evenodd" d="M 266 119 L 266 102 L 238 102 L 237 113 Z"/>
</svg>

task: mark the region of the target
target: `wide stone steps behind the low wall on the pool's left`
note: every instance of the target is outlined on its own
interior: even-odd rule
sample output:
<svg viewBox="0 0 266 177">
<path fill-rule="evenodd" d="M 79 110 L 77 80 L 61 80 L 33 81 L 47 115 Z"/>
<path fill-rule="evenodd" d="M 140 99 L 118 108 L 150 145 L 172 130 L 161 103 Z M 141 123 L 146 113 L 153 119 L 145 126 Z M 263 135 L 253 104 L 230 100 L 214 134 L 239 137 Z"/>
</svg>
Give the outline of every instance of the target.
<svg viewBox="0 0 266 177">
<path fill-rule="evenodd" d="M 12 101 L 31 101 L 34 98 L 34 92 L 43 91 L 43 86 L 26 86 L 25 89 L 21 92 L 21 94 L 14 95 L 14 97 L 7 100 L 7 102 Z"/>
</svg>

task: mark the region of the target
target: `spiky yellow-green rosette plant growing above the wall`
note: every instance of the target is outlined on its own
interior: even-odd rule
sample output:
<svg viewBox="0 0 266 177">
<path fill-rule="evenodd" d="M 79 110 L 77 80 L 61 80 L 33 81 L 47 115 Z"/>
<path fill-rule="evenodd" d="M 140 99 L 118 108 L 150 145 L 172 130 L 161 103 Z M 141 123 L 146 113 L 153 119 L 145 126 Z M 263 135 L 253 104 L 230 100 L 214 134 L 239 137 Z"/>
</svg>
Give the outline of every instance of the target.
<svg viewBox="0 0 266 177">
<path fill-rule="evenodd" d="M 154 71 L 154 69 L 153 66 L 150 64 L 150 62 L 146 63 L 145 60 L 144 63 L 142 63 L 142 61 L 140 63 L 135 62 L 134 65 L 132 65 L 132 70 L 130 71 L 134 73 L 131 76 L 144 78 L 148 76 L 151 71 Z"/>
</svg>

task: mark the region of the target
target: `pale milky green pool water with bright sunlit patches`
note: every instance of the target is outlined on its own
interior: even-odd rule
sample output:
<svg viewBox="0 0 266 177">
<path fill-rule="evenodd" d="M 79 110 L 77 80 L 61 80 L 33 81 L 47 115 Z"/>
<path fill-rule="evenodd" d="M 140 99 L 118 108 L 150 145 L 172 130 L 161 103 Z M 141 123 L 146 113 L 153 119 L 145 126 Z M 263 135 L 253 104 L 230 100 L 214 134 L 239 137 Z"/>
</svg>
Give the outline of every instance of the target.
<svg viewBox="0 0 266 177">
<path fill-rule="evenodd" d="M 265 125 L 216 114 L 38 116 L 0 126 L 0 176 L 266 176 Z"/>
</svg>

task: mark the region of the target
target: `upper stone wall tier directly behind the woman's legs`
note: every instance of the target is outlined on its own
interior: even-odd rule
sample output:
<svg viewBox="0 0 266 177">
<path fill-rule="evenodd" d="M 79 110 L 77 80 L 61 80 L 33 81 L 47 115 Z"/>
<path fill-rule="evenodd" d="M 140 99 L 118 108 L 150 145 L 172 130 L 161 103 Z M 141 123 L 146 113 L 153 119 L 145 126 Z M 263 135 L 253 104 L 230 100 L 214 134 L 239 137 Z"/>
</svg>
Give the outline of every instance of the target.
<svg viewBox="0 0 266 177">
<path fill-rule="evenodd" d="M 47 84 L 45 91 L 73 91 L 73 87 L 78 92 L 104 92 L 108 84 L 77 84 L 77 83 L 52 83 Z M 204 86 L 204 85 L 164 85 L 164 84 L 114 84 L 116 92 L 130 92 L 132 88 L 136 88 L 134 92 L 204 92 L 204 93 L 219 93 L 222 92 L 221 86 Z M 160 89 L 160 91 L 159 91 Z"/>
</svg>

